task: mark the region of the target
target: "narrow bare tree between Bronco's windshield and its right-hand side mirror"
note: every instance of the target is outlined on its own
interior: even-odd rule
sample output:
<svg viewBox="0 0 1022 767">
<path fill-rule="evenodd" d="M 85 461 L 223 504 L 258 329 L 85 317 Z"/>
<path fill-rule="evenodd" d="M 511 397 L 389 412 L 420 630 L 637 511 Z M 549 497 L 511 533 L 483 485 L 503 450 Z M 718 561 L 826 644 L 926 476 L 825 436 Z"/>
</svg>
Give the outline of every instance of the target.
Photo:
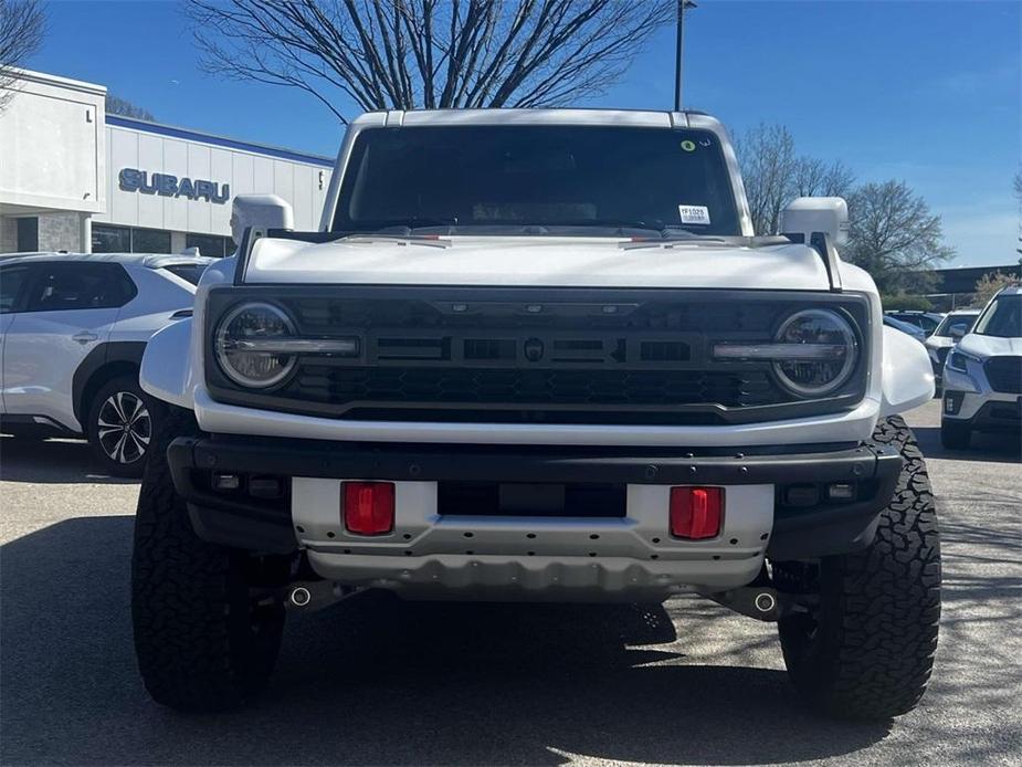
<svg viewBox="0 0 1022 767">
<path fill-rule="evenodd" d="M 783 125 L 760 123 L 737 141 L 752 229 L 757 234 L 777 232 L 781 210 L 793 197 L 794 138 Z"/>
</svg>

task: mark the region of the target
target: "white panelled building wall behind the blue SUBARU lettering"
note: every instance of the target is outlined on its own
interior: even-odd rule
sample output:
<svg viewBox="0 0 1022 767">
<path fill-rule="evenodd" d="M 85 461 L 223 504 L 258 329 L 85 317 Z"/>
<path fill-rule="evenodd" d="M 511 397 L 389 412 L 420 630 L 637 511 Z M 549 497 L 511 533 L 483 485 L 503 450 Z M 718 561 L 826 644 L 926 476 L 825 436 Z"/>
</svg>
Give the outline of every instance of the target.
<svg viewBox="0 0 1022 767">
<path fill-rule="evenodd" d="M 330 168 L 310 162 L 281 159 L 256 151 L 217 146 L 189 138 L 107 125 L 106 214 L 95 216 L 94 222 L 127 227 L 167 229 L 203 234 L 231 233 L 231 201 L 236 195 L 265 192 L 280 195 L 295 210 L 295 227 L 315 230 L 330 182 Z M 124 191 L 119 174 L 124 168 L 170 174 L 192 181 L 215 181 L 223 189 L 230 185 L 230 198 L 224 203 L 187 197 L 164 197 Z"/>
</svg>

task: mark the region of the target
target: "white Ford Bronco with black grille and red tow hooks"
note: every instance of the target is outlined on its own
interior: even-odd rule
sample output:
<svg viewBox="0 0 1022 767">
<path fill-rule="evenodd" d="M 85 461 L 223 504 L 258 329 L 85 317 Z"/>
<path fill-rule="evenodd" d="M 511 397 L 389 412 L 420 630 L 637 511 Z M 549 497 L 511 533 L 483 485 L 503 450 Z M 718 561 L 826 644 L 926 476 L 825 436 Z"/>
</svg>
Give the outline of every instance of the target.
<svg viewBox="0 0 1022 767">
<path fill-rule="evenodd" d="M 940 554 L 884 328 L 803 198 L 756 237 L 703 114 L 389 112 L 352 123 L 317 232 L 239 198 L 235 256 L 158 333 L 161 432 L 133 617 L 158 702 L 265 686 L 291 610 L 662 601 L 776 621 L 798 690 L 857 718 L 930 675 Z"/>
</svg>

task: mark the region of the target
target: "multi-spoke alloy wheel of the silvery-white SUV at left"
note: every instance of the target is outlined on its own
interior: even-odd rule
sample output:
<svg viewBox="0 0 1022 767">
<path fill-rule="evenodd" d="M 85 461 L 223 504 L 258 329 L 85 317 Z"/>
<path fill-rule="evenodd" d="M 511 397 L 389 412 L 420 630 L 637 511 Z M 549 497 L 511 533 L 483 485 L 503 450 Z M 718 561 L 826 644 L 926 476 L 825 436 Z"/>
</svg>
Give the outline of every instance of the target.
<svg viewBox="0 0 1022 767">
<path fill-rule="evenodd" d="M 152 400 L 138 380 L 122 376 L 99 388 L 88 409 L 86 434 L 107 473 L 141 476 L 154 434 Z"/>
</svg>

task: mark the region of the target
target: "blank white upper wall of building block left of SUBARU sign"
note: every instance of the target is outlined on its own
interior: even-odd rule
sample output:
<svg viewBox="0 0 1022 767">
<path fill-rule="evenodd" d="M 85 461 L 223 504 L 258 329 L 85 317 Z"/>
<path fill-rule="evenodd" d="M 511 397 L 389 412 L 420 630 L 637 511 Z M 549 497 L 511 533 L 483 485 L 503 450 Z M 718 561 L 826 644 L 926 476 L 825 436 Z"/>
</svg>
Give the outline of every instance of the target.
<svg viewBox="0 0 1022 767">
<path fill-rule="evenodd" d="M 106 210 L 106 88 L 27 70 L 0 112 L 0 206 Z"/>
</svg>

